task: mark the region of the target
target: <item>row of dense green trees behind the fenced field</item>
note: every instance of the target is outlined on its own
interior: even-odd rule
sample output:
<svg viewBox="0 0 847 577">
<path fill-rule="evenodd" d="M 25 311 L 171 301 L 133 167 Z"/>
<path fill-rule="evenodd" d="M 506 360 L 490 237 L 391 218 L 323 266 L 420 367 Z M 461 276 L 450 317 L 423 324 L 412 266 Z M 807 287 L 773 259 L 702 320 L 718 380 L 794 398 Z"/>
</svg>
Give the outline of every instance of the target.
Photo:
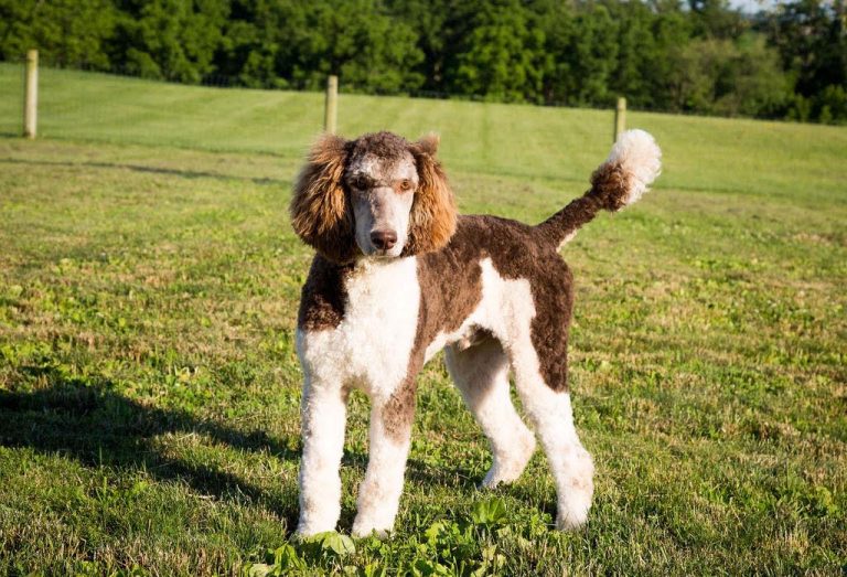
<svg viewBox="0 0 847 577">
<path fill-rule="evenodd" d="M 0 58 L 201 83 L 847 122 L 845 0 L 0 0 Z"/>
</svg>

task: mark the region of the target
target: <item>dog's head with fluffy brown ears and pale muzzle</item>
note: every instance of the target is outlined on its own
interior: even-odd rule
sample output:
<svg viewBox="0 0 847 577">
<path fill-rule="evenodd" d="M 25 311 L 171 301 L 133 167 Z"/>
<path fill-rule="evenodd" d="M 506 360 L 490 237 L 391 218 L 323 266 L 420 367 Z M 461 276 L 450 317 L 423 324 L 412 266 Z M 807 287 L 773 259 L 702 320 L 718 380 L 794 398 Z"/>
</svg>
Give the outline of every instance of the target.
<svg viewBox="0 0 847 577">
<path fill-rule="evenodd" d="M 294 184 L 294 232 L 334 263 L 441 248 L 455 231 L 455 203 L 437 148 L 435 136 L 322 137 Z"/>
</svg>

